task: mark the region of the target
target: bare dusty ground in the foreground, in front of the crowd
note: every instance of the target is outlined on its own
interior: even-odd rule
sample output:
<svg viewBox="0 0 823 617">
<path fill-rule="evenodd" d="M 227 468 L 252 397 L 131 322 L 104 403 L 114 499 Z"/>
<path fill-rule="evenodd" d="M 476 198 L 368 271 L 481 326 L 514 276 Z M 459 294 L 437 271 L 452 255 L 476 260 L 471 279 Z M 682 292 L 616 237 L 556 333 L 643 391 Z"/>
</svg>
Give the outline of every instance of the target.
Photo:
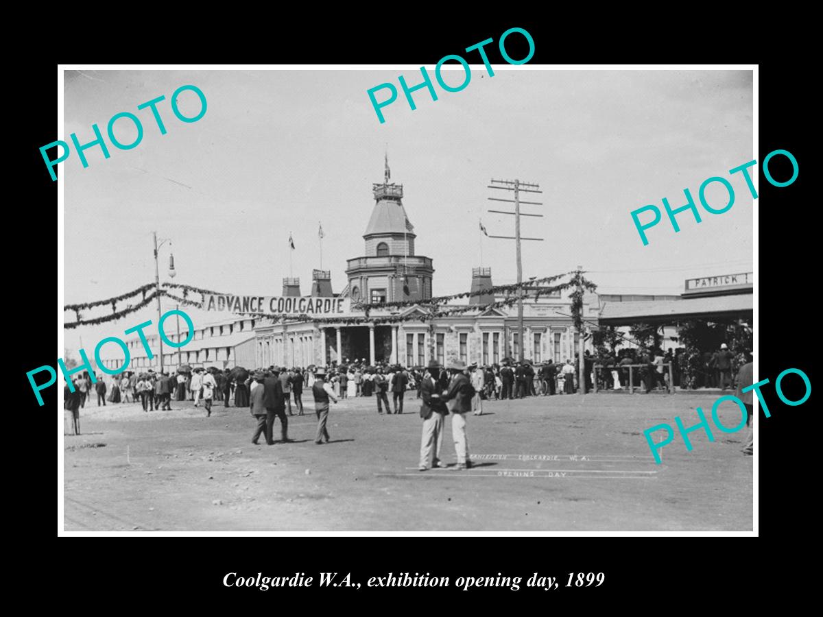
<svg viewBox="0 0 823 617">
<path fill-rule="evenodd" d="M 138 405 L 81 410 L 64 437 L 66 531 L 746 531 L 752 459 L 745 431 L 709 443 L 702 430 L 663 449 L 655 465 L 644 429 L 718 393 L 589 394 L 486 401 L 467 415 L 477 468 L 416 470 L 421 420 L 377 415 L 374 397 L 332 406 L 332 442 L 314 444 L 307 406 L 289 418 L 295 443 L 254 446 L 247 409 L 191 402 L 144 413 Z M 310 393 L 309 393 L 310 398 Z M 314 405 L 311 405 L 314 409 Z M 735 426 L 739 412 L 723 406 Z M 311 413 L 311 415 L 309 415 Z M 275 436 L 279 438 L 279 423 Z M 662 437 L 658 437 L 658 440 Z M 261 442 L 263 443 L 263 442 Z M 105 444 L 105 446 L 101 445 Z M 454 462 L 451 420 L 444 462 Z"/>
</svg>

